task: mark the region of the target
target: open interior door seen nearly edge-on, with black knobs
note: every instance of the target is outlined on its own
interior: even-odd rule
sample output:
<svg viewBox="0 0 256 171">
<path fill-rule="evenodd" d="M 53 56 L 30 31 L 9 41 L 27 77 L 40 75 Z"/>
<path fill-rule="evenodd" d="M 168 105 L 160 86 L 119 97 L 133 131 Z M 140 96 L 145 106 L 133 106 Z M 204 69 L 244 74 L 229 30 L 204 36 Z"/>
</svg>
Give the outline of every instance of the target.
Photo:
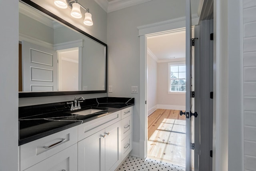
<svg viewBox="0 0 256 171">
<path fill-rule="evenodd" d="M 194 171 L 194 50 L 190 0 L 186 0 L 186 171 Z M 193 116 L 192 113 L 195 115 Z"/>
</svg>

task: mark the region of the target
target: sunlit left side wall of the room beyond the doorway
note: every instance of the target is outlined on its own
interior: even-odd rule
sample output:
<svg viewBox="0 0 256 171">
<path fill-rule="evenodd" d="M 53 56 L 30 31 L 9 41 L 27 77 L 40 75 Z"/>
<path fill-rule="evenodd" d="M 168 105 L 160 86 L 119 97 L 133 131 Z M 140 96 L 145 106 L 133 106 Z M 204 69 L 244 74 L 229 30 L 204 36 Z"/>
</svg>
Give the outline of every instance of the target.
<svg viewBox="0 0 256 171">
<path fill-rule="evenodd" d="M 150 54 L 147 54 L 147 107 L 148 115 L 157 109 L 157 62 Z"/>
</svg>

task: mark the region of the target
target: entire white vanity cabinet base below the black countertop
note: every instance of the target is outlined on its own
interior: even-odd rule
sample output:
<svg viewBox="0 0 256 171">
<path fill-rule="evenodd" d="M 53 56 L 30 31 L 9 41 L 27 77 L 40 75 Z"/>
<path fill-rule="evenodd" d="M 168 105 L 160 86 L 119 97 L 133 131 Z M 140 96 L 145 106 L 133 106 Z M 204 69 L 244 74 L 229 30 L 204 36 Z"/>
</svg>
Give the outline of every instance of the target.
<svg viewBox="0 0 256 171">
<path fill-rule="evenodd" d="M 114 171 L 132 150 L 128 107 L 19 147 L 20 171 Z"/>
</svg>

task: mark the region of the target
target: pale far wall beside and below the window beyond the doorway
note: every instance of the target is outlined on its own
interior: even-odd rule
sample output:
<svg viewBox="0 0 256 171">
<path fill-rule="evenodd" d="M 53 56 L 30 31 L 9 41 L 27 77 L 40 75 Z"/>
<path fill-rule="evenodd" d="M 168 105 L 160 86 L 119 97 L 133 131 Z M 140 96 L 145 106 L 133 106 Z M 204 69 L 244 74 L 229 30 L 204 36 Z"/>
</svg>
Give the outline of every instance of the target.
<svg viewBox="0 0 256 171">
<path fill-rule="evenodd" d="M 158 63 L 157 103 L 161 109 L 186 110 L 186 93 L 168 93 L 168 62 Z"/>
</svg>

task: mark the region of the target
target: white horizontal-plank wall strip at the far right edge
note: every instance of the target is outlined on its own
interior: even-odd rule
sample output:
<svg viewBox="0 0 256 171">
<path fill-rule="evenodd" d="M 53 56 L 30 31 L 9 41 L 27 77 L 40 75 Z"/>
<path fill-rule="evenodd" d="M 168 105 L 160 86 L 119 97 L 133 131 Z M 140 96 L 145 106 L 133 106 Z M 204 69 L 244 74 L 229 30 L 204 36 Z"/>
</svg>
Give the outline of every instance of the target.
<svg viewBox="0 0 256 171">
<path fill-rule="evenodd" d="M 244 171 L 256 171 L 256 2 L 242 2 Z"/>
</svg>

